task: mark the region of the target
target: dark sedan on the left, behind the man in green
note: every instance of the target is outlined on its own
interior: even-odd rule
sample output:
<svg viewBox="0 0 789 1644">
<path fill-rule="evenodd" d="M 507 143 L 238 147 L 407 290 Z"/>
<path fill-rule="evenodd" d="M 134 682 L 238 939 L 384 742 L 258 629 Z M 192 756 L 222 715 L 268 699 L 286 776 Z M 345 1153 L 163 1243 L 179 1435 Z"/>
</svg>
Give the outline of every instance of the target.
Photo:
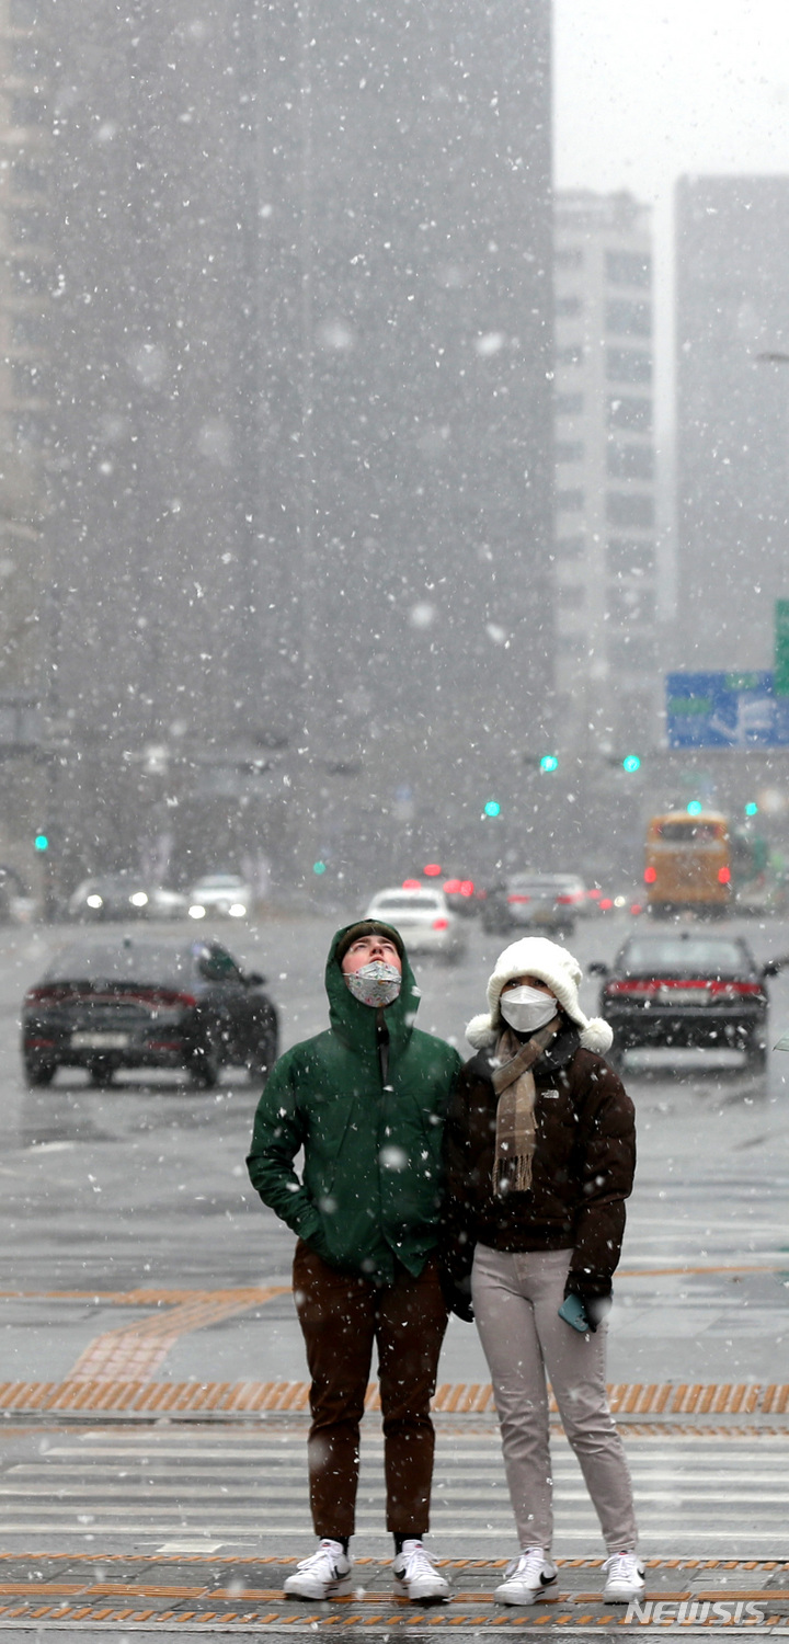
<svg viewBox="0 0 789 1644">
<path fill-rule="evenodd" d="M 25 1077 L 49 1085 L 59 1067 L 84 1067 L 104 1085 L 118 1069 L 187 1069 L 209 1090 L 240 1065 L 265 1080 L 279 1031 L 263 985 L 219 942 L 85 937 L 25 995 Z"/>
</svg>

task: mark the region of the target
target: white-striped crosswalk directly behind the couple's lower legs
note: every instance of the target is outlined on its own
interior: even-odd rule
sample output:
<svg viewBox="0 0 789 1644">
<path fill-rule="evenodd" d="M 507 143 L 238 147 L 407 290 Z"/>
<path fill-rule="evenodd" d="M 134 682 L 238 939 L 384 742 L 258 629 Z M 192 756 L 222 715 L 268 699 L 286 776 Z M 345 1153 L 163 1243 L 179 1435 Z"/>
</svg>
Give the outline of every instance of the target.
<svg viewBox="0 0 789 1644">
<path fill-rule="evenodd" d="M 367 1425 L 367 1424 L 365 1424 Z M 623 1434 L 648 1555 L 786 1557 L 789 1434 Z M 562 1435 L 554 1440 L 556 1552 L 602 1552 L 597 1517 Z M 311 1535 L 306 1424 L 258 1429 L 49 1432 L 0 1473 L 7 1544 L 87 1537 L 94 1545 L 270 1547 L 302 1552 Z M 357 1539 L 385 1534 L 383 1448 L 363 1435 Z M 452 1557 L 513 1550 L 513 1521 L 493 1424 L 441 1425 L 432 1544 Z"/>
</svg>

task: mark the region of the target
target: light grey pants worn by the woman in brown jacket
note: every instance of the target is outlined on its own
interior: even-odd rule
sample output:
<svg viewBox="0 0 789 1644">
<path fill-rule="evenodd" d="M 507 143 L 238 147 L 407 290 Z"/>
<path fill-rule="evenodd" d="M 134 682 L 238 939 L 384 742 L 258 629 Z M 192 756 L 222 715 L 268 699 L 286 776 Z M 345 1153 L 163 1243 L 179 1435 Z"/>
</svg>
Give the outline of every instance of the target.
<svg viewBox="0 0 789 1644">
<path fill-rule="evenodd" d="M 607 1325 L 580 1335 L 559 1318 L 570 1254 L 477 1245 L 473 1256 L 473 1312 L 490 1365 L 514 1522 L 521 1547 L 551 1554 L 549 1376 L 605 1545 L 610 1554 L 634 1552 L 633 1489 L 605 1391 Z"/>
</svg>

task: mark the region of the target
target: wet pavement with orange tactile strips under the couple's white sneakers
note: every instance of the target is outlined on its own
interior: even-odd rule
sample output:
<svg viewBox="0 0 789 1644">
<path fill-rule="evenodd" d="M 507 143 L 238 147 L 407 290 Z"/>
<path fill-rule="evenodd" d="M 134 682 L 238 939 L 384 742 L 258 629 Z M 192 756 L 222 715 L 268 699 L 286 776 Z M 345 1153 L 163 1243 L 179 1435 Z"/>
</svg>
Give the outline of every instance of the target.
<svg viewBox="0 0 789 1644">
<path fill-rule="evenodd" d="M 112 1565 L 115 1580 L 95 1580 L 95 1565 Z M 13 1563 L 15 1580 L 2 1580 L 3 1565 Z M 97 1560 L 95 1554 L 56 1554 L 46 1555 L 41 1568 L 41 1557 L 30 1559 L 30 1570 L 36 1573 L 35 1590 L 31 1580 L 23 1578 L 26 1559 L 18 1554 L 0 1554 L 0 1629 L 48 1631 L 67 1629 L 79 1623 L 85 1631 L 104 1631 L 123 1626 L 130 1631 L 171 1631 L 181 1629 L 220 1632 L 245 1631 L 253 1628 L 276 1632 L 281 1628 L 311 1631 L 330 1628 L 347 1632 L 365 1628 L 370 1631 L 386 1631 L 403 1628 L 467 1628 L 473 1632 L 488 1632 L 501 1626 L 516 1628 L 564 1628 L 577 1631 L 580 1628 L 621 1628 L 628 1624 L 623 1606 L 603 1606 L 600 1591 L 567 1590 L 585 1570 L 600 1570 L 600 1559 L 559 1559 L 561 1575 L 565 1590 L 547 1605 L 538 1605 L 528 1611 L 505 1609 L 491 1601 L 491 1590 L 496 1585 L 503 1559 L 468 1560 L 442 1559 L 441 1567 L 454 1580 L 452 1603 L 439 1608 L 409 1605 L 391 1596 L 391 1591 L 365 1590 L 370 1577 L 388 1583 L 388 1567 L 375 1559 L 358 1559 L 360 1588 L 347 1598 L 337 1598 L 325 1605 L 288 1603 L 283 1600 L 279 1586 L 268 1586 L 255 1582 L 250 1565 L 265 1572 L 268 1567 L 281 1568 L 296 1563 L 294 1559 L 283 1557 L 205 1557 L 181 1555 L 168 1560 L 163 1555 L 135 1557 L 110 1555 Z M 168 1563 L 173 1573 L 179 1573 L 184 1565 L 194 1568 L 194 1582 L 166 1580 Z M 87 1575 L 79 1578 L 79 1567 L 92 1567 L 94 1580 Z M 122 1580 L 123 1565 L 130 1568 L 130 1578 Z M 61 1578 L 58 1570 L 62 1570 Z M 214 1580 L 207 1578 L 209 1568 Z M 150 1572 L 146 1578 L 145 1572 Z M 201 1578 L 201 1570 L 205 1577 Z M 787 1631 L 789 1588 L 766 1591 L 756 1585 L 786 1570 L 779 1560 L 723 1560 L 723 1559 L 648 1559 L 648 1591 L 641 1600 L 644 1606 L 661 1605 L 654 1626 L 697 1626 L 702 1629 L 733 1631 L 748 1629 L 758 1624 L 759 1631 Z M 104 1570 L 102 1570 L 104 1575 Z M 672 1585 L 651 1586 L 659 1575 L 667 1577 Z M 751 1580 L 753 1585 L 735 1586 L 736 1578 Z M 477 1582 L 477 1586 L 470 1583 Z M 725 1605 L 725 1618 L 713 1613 L 715 1603 Z M 751 1606 L 751 1611 L 748 1611 Z M 758 1619 L 756 1619 L 758 1616 Z M 634 1624 L 644 1624 L 636 1621 Z"/>
</svg>

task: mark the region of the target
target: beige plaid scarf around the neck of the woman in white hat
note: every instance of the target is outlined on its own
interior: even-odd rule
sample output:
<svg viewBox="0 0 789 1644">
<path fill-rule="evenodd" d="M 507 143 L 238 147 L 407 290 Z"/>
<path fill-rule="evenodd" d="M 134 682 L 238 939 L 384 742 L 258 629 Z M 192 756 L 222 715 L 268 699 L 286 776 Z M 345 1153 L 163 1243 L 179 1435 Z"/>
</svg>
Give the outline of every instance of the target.
<svg viewBox="0 0 789 1644">
<path fill-rule="evenodd" d="M 496 1154 L 493 1159 L 493 1192 L 528 1194 L 534 1157 L 536 1085 L 531 1072 L 538 1057 L 559 1032 L 559 1016 L 539 1028 L 523 1044 L 505 1028 L 496 1044 L 498 1067 L 493 1072 L 496 1106 Z"/>
</svg>

